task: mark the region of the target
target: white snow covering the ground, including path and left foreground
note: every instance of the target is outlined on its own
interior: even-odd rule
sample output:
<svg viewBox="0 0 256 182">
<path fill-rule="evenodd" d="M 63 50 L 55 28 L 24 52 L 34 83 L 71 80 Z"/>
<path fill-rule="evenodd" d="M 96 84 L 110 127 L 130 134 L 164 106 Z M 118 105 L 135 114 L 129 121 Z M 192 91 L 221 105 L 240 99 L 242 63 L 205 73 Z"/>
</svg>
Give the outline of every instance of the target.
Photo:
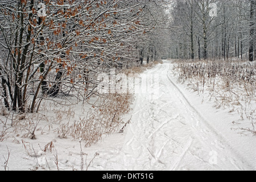
<svg viewBox="0 0 256 182">
<path fill-rule="evenodd" d="M 123 133 L 103 137 L 87 148 L 81 142 L 82 152 L 87 154 L 87 158 L 83 155 L 84 169 L 96 152 L 99 155 L 90 163 L 91 171 L 256 169 L 256 138 L 231 130 L 239 115 L 215 109 L 210 101 L 202 102 L 201 96 L 177 83 L 172 67 L 170 61 L 164 61 L 141 74 L 142 80 L 159 75 L 159 82 L 147 82 L 147 93 L 135 94 L 133 111 L 126 115 L 131 123 Z M 79 107 L 75 110 L 81 110 Z M 36 137 L 30 140 L 9 134 L 0 142 L 0 170 L 8 157 L 7 147 L 10 171 L 81 170 L 79 141 L 39 131 Z M 51 141 L 53 151 L 50 147 L 42 151 Z"/>
</svg>

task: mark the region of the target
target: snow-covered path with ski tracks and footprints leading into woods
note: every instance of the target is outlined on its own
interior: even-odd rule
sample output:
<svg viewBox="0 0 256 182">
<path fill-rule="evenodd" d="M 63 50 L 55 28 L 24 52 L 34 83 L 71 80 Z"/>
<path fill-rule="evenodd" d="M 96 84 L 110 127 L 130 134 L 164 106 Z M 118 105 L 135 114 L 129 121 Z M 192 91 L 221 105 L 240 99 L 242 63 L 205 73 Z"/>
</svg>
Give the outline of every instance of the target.
<svg viewBox="0 0 256 182">
<path fill-rule="evenodd" d="M 137 95 L 123 146 L 101 151 L 92 167 L 103 170 L 255 169 L 190 104 L 171 80 L 170 69 L 171 64 L 166 61 L 147 71 L 147 74 L 159 73 L 158 99 L 149 100 L 147 94 L 142 93 Z"/>
</svg>

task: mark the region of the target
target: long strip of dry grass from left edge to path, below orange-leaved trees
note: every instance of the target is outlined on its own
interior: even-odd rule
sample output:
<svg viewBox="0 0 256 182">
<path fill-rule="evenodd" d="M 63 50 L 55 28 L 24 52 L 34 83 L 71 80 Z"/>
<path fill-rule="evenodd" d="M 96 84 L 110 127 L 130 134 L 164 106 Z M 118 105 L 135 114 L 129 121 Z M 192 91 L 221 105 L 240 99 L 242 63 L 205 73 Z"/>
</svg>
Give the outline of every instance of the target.
<svg viewBox="0 0 256 182">
<path fill-rule="evenodd" d="M 0 141 L 5 139 L 7 133 L 14 133 L 21 138 L 37 139 L 37 135 L 54 131 L 61 139 L 82 139 L 86 146 L 90 146 L 97 143 L 103 135 L 120 130 L 126 122 L 123 121 L 123 116 L 131 110 L 133 98 L 131 94 L 106 94 L 93 102 L 91 109 L 82 108 L 79 111 L 74 106 L 58 106 L 51 108 L 51 115 L 55 115 L 54 117 L 39 113 L 17 115 L 11 128 L 6 129 L 3 126 Z"/>
</svg>

